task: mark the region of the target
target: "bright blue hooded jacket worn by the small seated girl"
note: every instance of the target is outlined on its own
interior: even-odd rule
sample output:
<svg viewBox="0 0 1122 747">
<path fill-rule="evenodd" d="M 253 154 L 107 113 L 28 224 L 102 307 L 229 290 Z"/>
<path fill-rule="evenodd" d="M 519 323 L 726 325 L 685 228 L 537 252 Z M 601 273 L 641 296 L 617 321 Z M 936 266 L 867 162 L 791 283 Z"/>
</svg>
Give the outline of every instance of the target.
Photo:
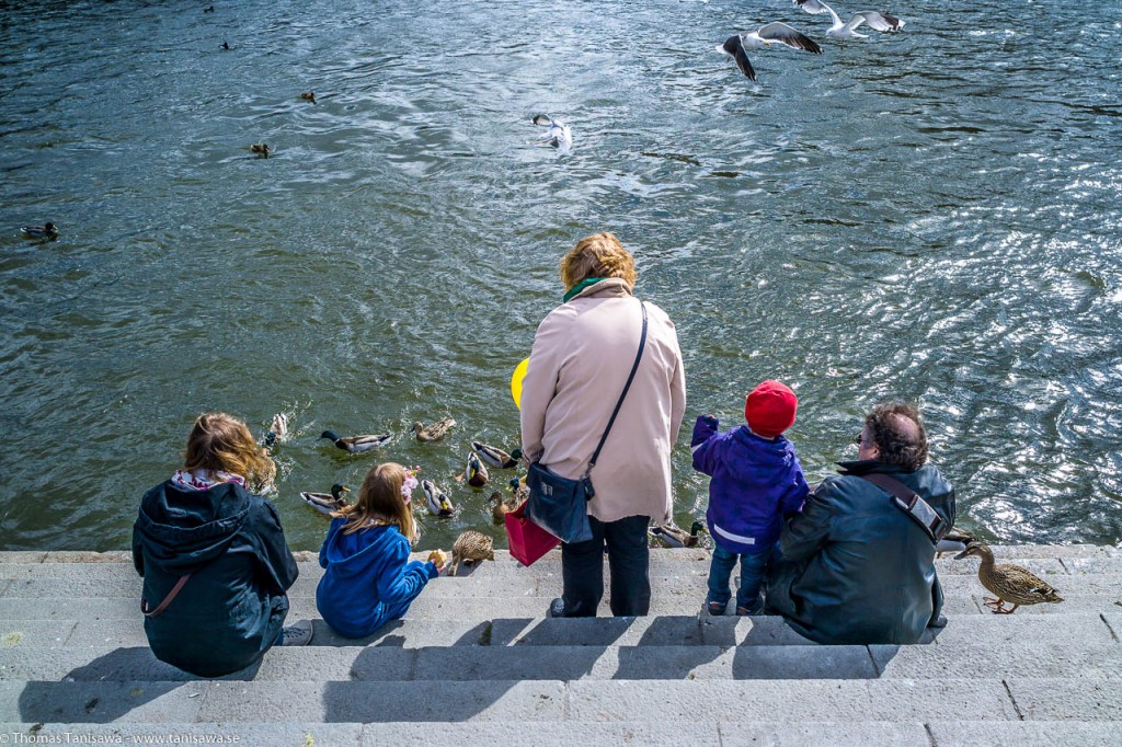
<svg viewBox="0 0 1122 747">
<path fill-rule="evenodd" d="M 320 547 L 320 565 L 327 570 L 315 589 L 315 606 L 340 635 L 361 638 L 401 617 L 438 572 L 432 562 L 410 561 L 410 541 L 396 526 L 343 534 L 346 525 L 346 518 L 332 519 Z M 392 611 L 398 614 L 387 615 Z"/>
</svg>

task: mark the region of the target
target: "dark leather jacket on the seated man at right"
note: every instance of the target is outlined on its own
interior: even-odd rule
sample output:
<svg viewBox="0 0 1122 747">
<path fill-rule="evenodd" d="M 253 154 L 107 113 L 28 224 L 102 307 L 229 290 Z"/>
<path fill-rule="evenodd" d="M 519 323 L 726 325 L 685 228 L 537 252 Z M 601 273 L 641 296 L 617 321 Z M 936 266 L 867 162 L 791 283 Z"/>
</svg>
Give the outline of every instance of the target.
<svg viewBox="0 0 1122 747">
<path fill-rule="evenodd" d="M 912 644 L 942 608 L 935 545 L 892 497 L 861 474 L 891 474 L 951 526 L 955 491 L 927 464 L 914 472 L 876 461 L 840 462 L 790 517 L 770 611 L 824 644 Z"/>
</svg>

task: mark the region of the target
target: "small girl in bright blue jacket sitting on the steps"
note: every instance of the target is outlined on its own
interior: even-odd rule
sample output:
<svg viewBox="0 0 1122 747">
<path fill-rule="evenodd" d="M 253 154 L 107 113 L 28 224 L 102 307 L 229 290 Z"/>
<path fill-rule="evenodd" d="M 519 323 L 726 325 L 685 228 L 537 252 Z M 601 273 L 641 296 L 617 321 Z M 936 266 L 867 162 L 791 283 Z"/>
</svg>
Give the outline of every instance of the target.
<svg viewBox="0 0 1122 747">
<path fill-rule="evenodd" d="M 339 635 L 361 638 L 405 616 L 410 605 L 444 569 L 430 555 L 410 561 L 417 540 L 410 506 L 413 472 L 386 462 L 371 469 L 353 506 L 332 514 L 320 548 L 325 569 L 315 589 L 315 606 Z"/>
</svg>

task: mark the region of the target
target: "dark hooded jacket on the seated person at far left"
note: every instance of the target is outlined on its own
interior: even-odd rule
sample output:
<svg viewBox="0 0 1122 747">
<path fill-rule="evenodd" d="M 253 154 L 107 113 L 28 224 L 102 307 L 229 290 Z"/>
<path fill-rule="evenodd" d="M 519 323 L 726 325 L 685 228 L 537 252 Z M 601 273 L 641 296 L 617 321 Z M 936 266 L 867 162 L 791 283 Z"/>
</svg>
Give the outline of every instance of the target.
<svg viewBox="0 0 1122 747">
<path fill-rule="evenodd" d="M 145 494 L 132 562 L 149 610 L 192 574 L 144 627 L 156 658 L 206 677 L 245 668 L 268 651 L 298 573 L 276 507 L 233 482 L 191 490 L 168 480 Z"/>
</svg>

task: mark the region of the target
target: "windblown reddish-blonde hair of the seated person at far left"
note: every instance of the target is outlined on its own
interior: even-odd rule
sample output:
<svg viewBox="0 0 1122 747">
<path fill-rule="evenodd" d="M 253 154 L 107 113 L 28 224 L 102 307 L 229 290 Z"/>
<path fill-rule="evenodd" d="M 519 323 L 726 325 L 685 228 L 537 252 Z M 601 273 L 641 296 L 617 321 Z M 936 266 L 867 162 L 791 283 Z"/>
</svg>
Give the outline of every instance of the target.
<svg viewBox="0 0 1122 747">
<path fill-rule="evenodd" d="M 257 445 L 246 424 L 226 413 L 203 413 L 195 419 L 183 468 L 188 472 L 240 474 L 254 486 L 267 486 L 277 473 L 277 465 Z"/>
</svg>

